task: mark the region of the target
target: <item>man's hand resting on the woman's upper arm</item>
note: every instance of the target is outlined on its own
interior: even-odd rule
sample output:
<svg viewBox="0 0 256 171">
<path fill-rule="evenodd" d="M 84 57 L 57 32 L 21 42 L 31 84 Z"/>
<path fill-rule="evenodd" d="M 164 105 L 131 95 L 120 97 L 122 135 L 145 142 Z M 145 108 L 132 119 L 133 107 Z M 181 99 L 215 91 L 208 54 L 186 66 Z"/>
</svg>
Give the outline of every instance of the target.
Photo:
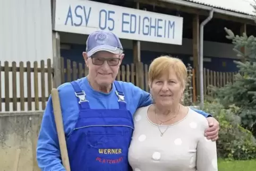
<svg viewBox="0 0 256 171">
<path fill-rule="evenodd" d="M 219 139 L 219 122 L 214 117 L 207 117 L 209 128 L 205 131 L 204 136 L 208 140 L 216 141 Z"/>
</svg>

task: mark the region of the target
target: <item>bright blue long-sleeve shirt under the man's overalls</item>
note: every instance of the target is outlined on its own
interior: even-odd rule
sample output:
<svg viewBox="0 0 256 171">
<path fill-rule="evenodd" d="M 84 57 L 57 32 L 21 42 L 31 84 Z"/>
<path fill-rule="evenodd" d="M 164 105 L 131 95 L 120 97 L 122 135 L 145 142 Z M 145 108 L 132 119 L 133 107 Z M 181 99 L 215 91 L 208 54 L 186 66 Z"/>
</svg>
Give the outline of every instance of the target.
<svg viewBox="0 0 256 171">
<path fill-rule="evenodd" d="M 92 109 L 117 109 L 119 108 L 115 87 L 109 93 L 97 92 L 88 83 L 87 78 L 77 80 L 80 87 L 86 92 Z M 151 96 L 148 92 L 141 90 L 132 83 L 120 81 L 122 91 L 125 95 L 127 110 L 133 115 L 137 108 L 152 104 Z M 63 125 L 66 138 L 75 127 L 78 119 L 79 108 L 70 83 L 64 83 L 58 87 L 59 99 L 63 115 Z M 209 114 L 202 110 L 193 109 L 195 112 L 208 117 Z M 128 147 L 127 147 L 128 148 Z M 53 114 L 52 97 L 49 97 L 44 115 L 42 117 L 41 129 L 37 143 L 37 161 L 42 171 L 64 171 L 61 163 L 58 136 Z"/>
</svg>

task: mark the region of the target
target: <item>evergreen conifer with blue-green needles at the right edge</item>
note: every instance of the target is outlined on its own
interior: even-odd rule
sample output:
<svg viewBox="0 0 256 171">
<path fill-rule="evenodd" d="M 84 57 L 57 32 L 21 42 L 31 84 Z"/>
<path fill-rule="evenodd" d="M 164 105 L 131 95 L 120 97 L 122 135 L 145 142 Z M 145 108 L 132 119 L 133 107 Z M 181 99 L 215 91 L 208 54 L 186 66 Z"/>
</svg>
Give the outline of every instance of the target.
<svg viewBox="0 0 256 171">
<path fill-rule="evenodd" d="M 254 6 L 255 8 L 255 6 Z M 255 8 L 256 9 L 256 8 Z M 237 64 L 239 73 L 235 75 L 233 84 L 228 83 L 223 88 L 215 88 L 217 97 L 221 103 L 228 107 L 236 105 L 240 107 L 238 115 L 242 119 L 242 125 L 256 135 L 256 38 L 235 36 L 234 33 L 225 28 L 228 36 L 234 44 L 234 50 L 241 61 L 234 61 Z M 243 49 L 243 50 L 242 50 Z"/>
</svg>

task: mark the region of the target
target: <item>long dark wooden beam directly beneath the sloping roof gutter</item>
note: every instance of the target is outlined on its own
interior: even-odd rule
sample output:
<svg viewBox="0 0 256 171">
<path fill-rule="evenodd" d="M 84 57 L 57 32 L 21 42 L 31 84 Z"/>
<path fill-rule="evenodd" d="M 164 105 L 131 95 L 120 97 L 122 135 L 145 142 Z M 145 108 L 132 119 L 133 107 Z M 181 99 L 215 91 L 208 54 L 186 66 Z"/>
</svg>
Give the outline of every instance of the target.
<svg viewBox="0 0 256 171">
<path fill-rule="evenodd" d="M 209 11 L 207 11 L 207 10 L 201 10 L 199 8 L 177 5 L 177 4 L 172 4 L 172 3 L 163 2 L 163 1 L 135 0 L 135 2 L 139 2 L 142 4 L 148 4 L 148 5 L 152 5 L 152 6 L 159 6 L 159 7 L 163 7 L 163 8 L 169 8 L 172 10 L 177 10 L 177 11 L 190 13 L 190 14 L 198 14 L 198 15 L 204 15 L 204 16 L 209 15 Z M 228 21 L 234 21 L 234 22 L 240 22 L 240 23 L 246 23 L 246 24 L 250 24 L 250 25 L 256 25 L 253 20 L 240 19 L 240 18 L 236 18 L 234 16 L 229 16 L 229 15 L 224 15 L 224 14 L 219 14 L 219 13 L 215 13 L 214 18 L 228 20 Z"/>
</svg>

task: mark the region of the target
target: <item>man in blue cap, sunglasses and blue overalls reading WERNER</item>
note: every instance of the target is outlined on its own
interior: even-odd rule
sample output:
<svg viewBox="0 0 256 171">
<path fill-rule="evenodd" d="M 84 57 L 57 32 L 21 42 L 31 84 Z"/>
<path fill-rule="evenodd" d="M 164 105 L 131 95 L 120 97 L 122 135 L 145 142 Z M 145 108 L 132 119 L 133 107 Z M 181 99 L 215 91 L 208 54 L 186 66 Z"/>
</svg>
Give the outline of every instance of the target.
<svg viewBox="0 0 256 171">
<path fill-rule="evenodd" d="M 132 83 L 115 81 L 124 54 L 114 33 L 91 33 L 83 57 L 89 74 L 58 87 L 71 170 L 129 170 L 127 153 L 134 130 L 133 114 L 139 107 L 150 105 L 151 96 Z M 210 127 L 205 136 L 217 140 L 216 119 L 195 111 L 208 119 Z M 51 97 L 42 118 L 37 160 L 43 171 L 65 170 Z"/>
</svg>

